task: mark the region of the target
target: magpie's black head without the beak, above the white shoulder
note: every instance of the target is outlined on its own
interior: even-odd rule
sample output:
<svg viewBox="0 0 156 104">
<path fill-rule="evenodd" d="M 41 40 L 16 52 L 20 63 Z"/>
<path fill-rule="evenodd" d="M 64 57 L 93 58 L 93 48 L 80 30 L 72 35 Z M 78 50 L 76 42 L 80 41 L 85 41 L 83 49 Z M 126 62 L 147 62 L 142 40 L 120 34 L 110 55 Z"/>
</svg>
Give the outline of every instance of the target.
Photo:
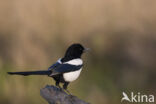
<svg viewBox="0 0 156 104">
<path fill-rule="evenodd" d="M 81 44 L 72 44 L 67 49 L 63 61 L 68 61 L 74 58 L 81 58 L 81 55 L 85 52 L 85 48 Z"/>
</svg>

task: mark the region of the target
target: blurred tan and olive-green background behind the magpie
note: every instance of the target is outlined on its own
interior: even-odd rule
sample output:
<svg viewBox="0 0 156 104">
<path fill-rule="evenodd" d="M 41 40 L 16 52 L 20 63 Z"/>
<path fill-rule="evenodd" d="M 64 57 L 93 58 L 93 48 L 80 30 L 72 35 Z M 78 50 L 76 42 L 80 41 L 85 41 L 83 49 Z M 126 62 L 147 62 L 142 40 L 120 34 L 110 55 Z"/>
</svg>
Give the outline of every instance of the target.
<svg viewBox="0 0 156 104">
<path fill-rule="evenodd" d="M 51 78 L 7 72 L 46 70 L 72 43 L 91 48 L 72 94 L 91 104 L 156 95 L 155 10 L 155 0 L 1 0 L 0 103 L 47 104 Z"/>
</svg>

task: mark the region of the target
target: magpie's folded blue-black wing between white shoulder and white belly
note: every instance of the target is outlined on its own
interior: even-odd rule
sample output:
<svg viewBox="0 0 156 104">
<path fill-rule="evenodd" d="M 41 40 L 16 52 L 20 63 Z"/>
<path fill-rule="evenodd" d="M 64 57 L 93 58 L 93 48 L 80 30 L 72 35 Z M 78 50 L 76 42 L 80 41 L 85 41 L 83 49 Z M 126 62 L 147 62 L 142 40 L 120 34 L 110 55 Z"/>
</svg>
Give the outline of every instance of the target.
<svg viewBox="0 0 156 104">
<path fill-rule="evenodd" d="M 83 65 L 71 65 L 71 64 L 60 64 L 57 68 L 52 70 L 52 75 L 67 73 L 79 70 Z"/>
</svg>

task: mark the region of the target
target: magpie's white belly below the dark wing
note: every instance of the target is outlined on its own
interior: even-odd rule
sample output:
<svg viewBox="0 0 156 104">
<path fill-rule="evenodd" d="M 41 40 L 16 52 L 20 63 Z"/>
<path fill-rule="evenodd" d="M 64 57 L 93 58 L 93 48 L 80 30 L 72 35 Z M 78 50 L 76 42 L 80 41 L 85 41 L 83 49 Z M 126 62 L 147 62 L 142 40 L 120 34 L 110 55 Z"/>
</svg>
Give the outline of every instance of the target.
<svg viewBox="0 0 156 104">
<path fill-rule="evenodd" d="M 76 80 L 79 77 L 81 70 L 82 70 L 82 68 L 80 70 L 77 70 L 74 72 L 64 73 L 63 74 L 64 80 L 67 82 L 72 82 L 72 81 Z"/>
</svg>

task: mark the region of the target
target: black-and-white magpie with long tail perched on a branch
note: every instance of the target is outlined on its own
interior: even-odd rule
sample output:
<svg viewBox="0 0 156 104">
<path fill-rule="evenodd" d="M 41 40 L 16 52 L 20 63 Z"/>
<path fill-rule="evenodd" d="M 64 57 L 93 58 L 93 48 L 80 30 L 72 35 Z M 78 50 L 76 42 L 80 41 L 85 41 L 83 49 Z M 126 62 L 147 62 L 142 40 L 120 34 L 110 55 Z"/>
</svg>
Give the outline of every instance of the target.
<svg viewBox="0 0 156 104">
<path fill-rule="evenodd" d="M 74 43 L 70 45 L 64 57 L 59 58 L 54 64 L 52 64 L 47 70 L 38 71 L 24 71 L 24 72 L 8 72 L 10 75 L 48 75 L 55 80 L 55 85 L 62 89 L 60 83 L 63 83 L 63 90 L 67 90 L 69 83 L 75 81 L 83 68 L 83 60 L 81 56 L 87 52 L 89 48 L 84 48 L 80 43 Z"/>
</svg>

